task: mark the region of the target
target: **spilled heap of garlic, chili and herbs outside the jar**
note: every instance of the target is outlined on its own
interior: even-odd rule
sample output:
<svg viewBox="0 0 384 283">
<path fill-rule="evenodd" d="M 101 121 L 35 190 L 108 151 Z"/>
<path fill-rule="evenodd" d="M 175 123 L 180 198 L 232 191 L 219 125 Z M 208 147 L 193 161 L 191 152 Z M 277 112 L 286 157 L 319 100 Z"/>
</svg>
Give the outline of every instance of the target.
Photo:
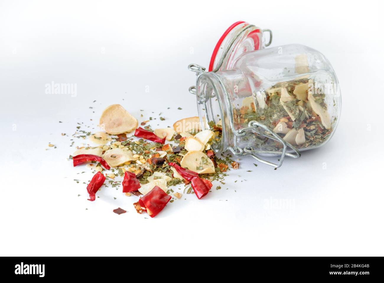
<svg viewBox="0 0 384 283">
<path fill-rule="evenodd" d="M 150 122 L 154 119 L 150 117 L 139 126 L 135 117 L 114 104 L 101 114 L 101 131 L 84 131 L 84 124 L 78 123 L 70 146 L 74 147 L 74 138 L 84 141 L 84 146 L 77 146 L 68 160 L 73 166 L 92 170 L 93 178 L 88 184 L 83 183 L 89 201 L 97 198 L 98 190 L 121 189 L 126 196 L 139 196 L 138 201 L 132 201 L 138 213 L 145 211 L 154 217 L 183 194 L 204 197 L 210 192 L 212 181 L 225 184 L 227 171 L 238 169 L 238 162 L 230 155 L 217 157 L 210 149 L 221 138 L 220 127 L 201 131 L 199 118 L 190 117 L 172 127 L 152 129 Z M 159 119 L 165 120 L 161 116 Z M 125 211 L 119 208 L 114 212 Z"/>
</svg>

